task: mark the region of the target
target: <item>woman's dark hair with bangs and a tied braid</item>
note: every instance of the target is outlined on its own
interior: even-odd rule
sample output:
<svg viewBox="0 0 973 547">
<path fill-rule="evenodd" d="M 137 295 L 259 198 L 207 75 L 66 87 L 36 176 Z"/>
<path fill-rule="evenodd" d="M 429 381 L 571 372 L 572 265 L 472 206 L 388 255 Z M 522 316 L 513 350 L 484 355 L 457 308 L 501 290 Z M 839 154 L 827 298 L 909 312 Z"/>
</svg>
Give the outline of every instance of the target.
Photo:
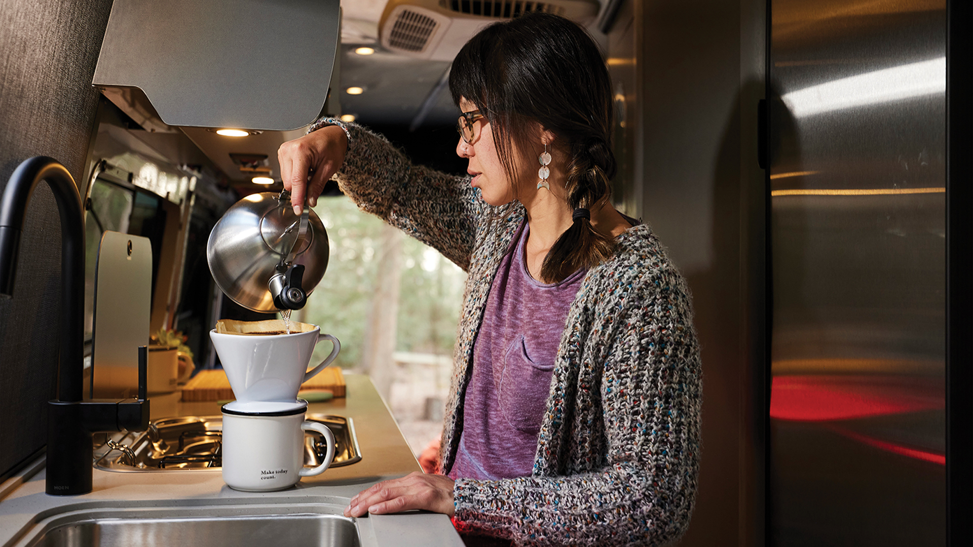
<svg viewBox="0 0 973 547">
<path fill-rule="evenodd" d="M 571 159 L 565 184 L 571 208 L 595 209 L 609 200 L 615 175 L 611 79 L 583 28 L 549 14 L 487 26 L 452 61 L 450 91 L 457 105 L 466 98 L 486 116 L 510 180 L 518 180 L 515 147 L 533 150 L 540 124 Z M 610 235 L 578 218 L 548 252 L 541 280 L 592 268 L 614 250 Z"/>
</svg>

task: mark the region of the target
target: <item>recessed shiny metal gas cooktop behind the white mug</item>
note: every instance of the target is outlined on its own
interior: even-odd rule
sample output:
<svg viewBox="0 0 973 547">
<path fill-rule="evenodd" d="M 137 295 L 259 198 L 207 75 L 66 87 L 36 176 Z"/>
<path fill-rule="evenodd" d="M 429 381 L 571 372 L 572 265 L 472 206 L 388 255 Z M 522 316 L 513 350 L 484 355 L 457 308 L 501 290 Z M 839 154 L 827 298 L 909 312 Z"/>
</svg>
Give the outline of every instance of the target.
<svg viewBox="0 0 973 547">
<path fill-rule="evenodd" d="M 323 423 L 335 434 L 332 467 L 361 459 L 354 423 L 350 418 L 309 414 L 308 421 Z M 94 467 L 106 471 L 145 472 L 172 470 L 220 470 L 222 466 L 222 416 L 189 416 L 153 420 L 149 430 L 106 437 L 96 447 Z M 325 453 L 316 431 L 305 432 L 305 464 L 316 466 Z"/>
</svg>

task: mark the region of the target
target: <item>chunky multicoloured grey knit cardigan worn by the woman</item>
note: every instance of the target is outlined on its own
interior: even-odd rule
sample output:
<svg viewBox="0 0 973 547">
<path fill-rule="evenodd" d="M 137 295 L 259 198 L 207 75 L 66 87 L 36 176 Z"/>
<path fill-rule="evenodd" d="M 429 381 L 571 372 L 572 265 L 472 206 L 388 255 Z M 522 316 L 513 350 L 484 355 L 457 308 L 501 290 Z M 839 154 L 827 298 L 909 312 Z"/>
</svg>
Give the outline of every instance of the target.
<svg viewBox="0 0 973 547">
<path fill-rule="evenodd" d="M 486 296 L 524 221 L 523 205 L 491 206 L 469 177 L 413 165 L 383 137 L 343 127 L 342 192 L 468 274 L 443 431 L 449 472 Z M 458 529 L 518 545 L 660 545 L 686 529 L 702 395 L 689 291 L 647 226 L 617 241 L 568 312 L 532 474 L 457 480 Z"/>
</svg>

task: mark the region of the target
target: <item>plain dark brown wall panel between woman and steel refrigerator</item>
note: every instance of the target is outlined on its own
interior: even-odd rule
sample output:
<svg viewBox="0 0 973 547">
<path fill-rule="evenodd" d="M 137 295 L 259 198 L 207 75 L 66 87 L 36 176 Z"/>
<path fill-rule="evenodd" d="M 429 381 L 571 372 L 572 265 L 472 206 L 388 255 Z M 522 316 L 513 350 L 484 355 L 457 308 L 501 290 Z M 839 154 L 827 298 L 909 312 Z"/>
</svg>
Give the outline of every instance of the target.
<svg viewBox="0 0 973 547">
<path fill-rule="evenodd" d="M 692 290 L 703 359 L 699 491 L 679 545 L 763 545 L 766 2 L 633 4 L 642 36 L 633 195 Z"/>
</svg>

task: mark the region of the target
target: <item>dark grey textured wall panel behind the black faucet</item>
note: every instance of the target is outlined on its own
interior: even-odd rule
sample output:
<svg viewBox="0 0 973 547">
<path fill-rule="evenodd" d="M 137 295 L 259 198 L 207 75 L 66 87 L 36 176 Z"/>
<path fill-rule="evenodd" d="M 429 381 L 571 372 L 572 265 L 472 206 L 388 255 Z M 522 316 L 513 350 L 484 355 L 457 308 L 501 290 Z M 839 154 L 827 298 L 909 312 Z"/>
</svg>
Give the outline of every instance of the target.
<svg viewBox="0 0 973 547">
<path fill-rule="evenodd" d="M 98 93 L 91 87 L 111 0 L 0 4 L 0 190 L 17 165 L 51 156 L 84 181 Z M 60 302 L 60 224 L 47 185 L 30 201 L 13 299 L 0 300 L 0 477 L 46 443 Z"/>
</svg>

